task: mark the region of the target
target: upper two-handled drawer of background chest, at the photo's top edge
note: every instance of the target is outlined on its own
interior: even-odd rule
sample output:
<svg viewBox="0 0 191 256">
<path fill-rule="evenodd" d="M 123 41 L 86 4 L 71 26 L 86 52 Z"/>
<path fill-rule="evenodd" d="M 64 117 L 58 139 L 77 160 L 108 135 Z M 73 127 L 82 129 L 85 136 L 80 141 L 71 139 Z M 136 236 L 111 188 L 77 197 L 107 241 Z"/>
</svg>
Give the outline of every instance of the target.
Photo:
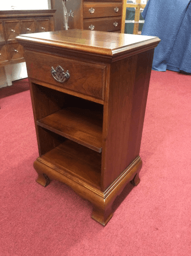
<svg viewBox="0 0 191 256">
<path fill-rule="evenodd" d="M 84 3 L 84 18 L 115 17 L 122 15 L 122 3 Z"/>
</svg>

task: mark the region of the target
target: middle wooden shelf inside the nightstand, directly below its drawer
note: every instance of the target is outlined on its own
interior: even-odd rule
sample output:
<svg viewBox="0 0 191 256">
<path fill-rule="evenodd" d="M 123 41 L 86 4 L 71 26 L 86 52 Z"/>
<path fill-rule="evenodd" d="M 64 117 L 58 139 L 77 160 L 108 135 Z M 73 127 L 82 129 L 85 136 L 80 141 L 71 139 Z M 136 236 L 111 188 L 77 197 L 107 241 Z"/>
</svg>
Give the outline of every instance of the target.
<svg viewBox="0 0 191 256">
<path fill-rule="evenodd" d="M 74 142 L 101 152 L 102 113 L 78 107 L 67 107 L 37 121 L 37 125 Z"/>
</svg>

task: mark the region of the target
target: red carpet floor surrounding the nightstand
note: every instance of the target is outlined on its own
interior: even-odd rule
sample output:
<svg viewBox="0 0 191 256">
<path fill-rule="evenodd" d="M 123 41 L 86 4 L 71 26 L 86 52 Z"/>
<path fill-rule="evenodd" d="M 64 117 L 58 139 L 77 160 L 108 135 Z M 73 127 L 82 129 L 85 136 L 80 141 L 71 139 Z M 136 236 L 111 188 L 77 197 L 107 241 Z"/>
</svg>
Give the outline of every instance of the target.
<svg viewBox="0 0 191 256">
<path fill-rule="evenodd" d="M 0 95 L 0 256 L 191 256 L 191 76 L 152 71 L 141 181 L 105 227 L 67 185 L 35 182 L 27 81 Z"/>
</svg>

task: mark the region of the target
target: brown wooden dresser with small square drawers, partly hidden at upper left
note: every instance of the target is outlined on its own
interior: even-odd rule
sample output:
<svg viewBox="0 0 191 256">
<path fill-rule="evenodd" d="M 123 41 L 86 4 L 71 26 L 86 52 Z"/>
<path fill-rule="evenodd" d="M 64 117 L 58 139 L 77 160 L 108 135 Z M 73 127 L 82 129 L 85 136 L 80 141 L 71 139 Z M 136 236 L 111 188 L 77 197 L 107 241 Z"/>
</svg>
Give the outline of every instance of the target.
<svg viewBox="0 0 191 256">
<path fill-rule="evenodd" d="M 15 37 L 20 34 L 53 31 L 56 10 L 0 11 L 0 65 L 23 62 L 23 48 Z"/>
</svg>

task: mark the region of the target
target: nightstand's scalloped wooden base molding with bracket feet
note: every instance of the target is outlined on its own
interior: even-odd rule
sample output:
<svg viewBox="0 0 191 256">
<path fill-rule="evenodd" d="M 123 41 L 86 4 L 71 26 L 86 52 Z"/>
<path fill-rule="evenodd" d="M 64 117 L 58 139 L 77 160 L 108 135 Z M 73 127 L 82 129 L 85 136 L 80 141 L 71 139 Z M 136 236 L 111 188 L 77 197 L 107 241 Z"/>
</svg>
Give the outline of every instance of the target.
<svg viewBox="0 0 191 256">
<path fill-rule="evenodd" d="M 42 158 L 37 158 L 34 161 L 34 169 L 39 177 L 36 180 L 40 185 L 47 186 L 51 180 L 58 180 L 70 186 L 79 196 L 89 200 L 93 204 L 92 218 L 101 225 L 105 226 L 112 218 L 112 204 L 117 196 L 123 191 L 124 187 L 131 182 L 133 185 L 138 185 L 140 182 L 139 172 L 142 167 L 142 161 L 138 156 L 124 172 L 116 179 L 106 191 L 102 192 L 79 178 L 74 176 L 64 175 L 60 173 L 58 168 L 51 166 L 49 162 Z"/>
</svg>

